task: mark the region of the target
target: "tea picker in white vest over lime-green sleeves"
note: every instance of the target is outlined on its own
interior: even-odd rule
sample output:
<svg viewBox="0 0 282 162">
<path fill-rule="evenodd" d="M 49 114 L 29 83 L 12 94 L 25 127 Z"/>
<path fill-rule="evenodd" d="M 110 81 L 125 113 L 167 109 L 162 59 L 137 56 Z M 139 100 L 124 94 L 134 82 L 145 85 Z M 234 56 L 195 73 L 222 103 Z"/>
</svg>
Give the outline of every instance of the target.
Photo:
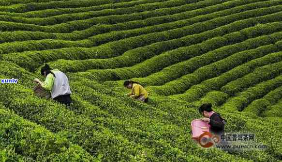
<svg viewBox="0 0 282 162">
<path fill-rule="evenodd" d="M 42 82 L 35 78 L 34 82 L 40 84 L 43 89 L 50 91 L 52 99 L 62 104 L 70 105 L 72 102 L 70 96 L 72 92 L 67 76 L 58 69 L 51 70 L 47 64 L 41 68 L 41 75 L 46 77 L 45 81 Z"/>
</svg>

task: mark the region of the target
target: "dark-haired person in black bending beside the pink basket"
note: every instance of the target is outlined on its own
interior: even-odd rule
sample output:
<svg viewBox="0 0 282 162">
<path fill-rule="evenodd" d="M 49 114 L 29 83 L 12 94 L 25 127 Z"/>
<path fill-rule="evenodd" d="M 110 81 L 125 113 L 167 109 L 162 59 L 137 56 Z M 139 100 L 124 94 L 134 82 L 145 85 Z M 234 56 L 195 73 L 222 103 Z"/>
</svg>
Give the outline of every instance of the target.
<svg viewBox="0 0 282 162">
<path fill-rule="evenodd" d="M 210 125 L 209 132 L 221 136 L 224 133 L 226 120 L 219 113 L 215 113 L 211 106 L 210 103 L 206 103 L 199 108 L 199 113 L 204 116 L 201 120 Z"/>
</svg>

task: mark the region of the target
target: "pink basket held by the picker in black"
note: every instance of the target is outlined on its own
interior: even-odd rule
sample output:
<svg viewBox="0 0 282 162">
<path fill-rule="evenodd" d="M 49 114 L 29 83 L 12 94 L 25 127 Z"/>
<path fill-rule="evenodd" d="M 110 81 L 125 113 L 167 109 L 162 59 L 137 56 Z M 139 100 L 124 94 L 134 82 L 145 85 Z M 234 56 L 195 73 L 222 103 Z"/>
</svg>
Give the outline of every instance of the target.
<svg viewBox="0 0 282 162">
<path fill-rule="evenodd" d="M 198 138 L 205 131 L 209 132 L 210 125 L 207 122 L 195 119 L 191 122 L 192 138 Z"/>
</svg>

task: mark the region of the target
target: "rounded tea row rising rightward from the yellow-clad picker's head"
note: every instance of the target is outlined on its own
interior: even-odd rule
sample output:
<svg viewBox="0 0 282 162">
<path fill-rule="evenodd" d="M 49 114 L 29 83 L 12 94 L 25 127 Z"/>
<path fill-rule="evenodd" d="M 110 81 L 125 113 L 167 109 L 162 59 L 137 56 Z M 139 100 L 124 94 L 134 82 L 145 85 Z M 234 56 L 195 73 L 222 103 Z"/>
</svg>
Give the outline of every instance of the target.
<svg viewBox="0 0 282 162">
<path fill-rule="evenodd" d="M 278 36 L 279 38 L 279 33 L 280 32 L 271 34 L 273 35 L 273 37 L 271 36 L 270 40 L 269 40 L 269 36 L 263 35 L 256 38 L 247 39 L 246 41 L 236 43 L 234 45 L 224 46 L 222 48 L 209 51 L 203 55 L 193 57 L 187 61 L 182 61 L 178 64 L 165 67 L 161 71 L 151 74 L 146 78 L 134 78 L 134 80 L 142 82 L 142 84 L 145 85 L 162 85 L 165 82 L 171 81 L 173 79 L 177 79 L 182 75 L 192 72 L 193 69 L 196 69 L 197 67 L 201 67 L 206 65 L 207 63 L 218 61 L 236 52 L 256 48 L 259 46 L 262 46 L 262 48 L 265 48 L 267 50 L 269 49 L 271 51 L 275 51 L 275 50 L 277 51 L 279 50 L 279 48 L 278 47 L 276 48 L 276 46 L 274 45 L 269 45 L 266 47 L 264 47 L 264 45 L 273 42 L 272 40 L 275 40 L 276 36 Z M 180 49 L 181 48 L 179 48 L 179 50 Z M 187 50 L 181 50 L 181 51 L 185 52 L 188 51 L 188 49 L 191 52 L 190 54 L 192 54 L 193 53 L 192 47 L 187 47 Z M 178 50 L 175 50 L 175 52 L 177 51 Z"/>
</svg>

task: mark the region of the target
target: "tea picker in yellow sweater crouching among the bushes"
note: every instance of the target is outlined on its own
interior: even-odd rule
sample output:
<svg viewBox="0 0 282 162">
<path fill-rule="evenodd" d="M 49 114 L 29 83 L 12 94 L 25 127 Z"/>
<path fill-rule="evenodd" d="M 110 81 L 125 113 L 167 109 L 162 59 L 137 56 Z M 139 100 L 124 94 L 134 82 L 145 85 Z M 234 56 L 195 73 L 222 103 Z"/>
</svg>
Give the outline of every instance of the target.
<svg viewBox="0 0 282 162">
<path fill-rule="evenodd" d="M 132 91 L 126 94 L 129 97 L 136 98 L 139 101 L 148 102 L 148 92 L 136 81 L 124 81 L 123 86 Z"/>
</svg>

